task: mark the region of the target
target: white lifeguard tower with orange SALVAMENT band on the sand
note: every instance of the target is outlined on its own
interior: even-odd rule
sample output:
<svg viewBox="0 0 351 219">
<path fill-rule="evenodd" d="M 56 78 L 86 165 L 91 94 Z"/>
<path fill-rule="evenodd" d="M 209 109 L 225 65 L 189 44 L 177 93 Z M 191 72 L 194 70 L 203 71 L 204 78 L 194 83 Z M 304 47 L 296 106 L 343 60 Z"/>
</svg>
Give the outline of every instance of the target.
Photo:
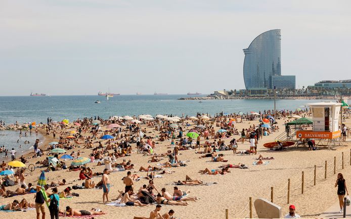
<svg viewBox="0 0 351 219">
<path fill-rule="evenodd" d="M 318 139 L 320 144 L 326 141 L 329 148 L 335 145 L 335 141 L 341 144 L 341 130 L 339 129 L 339 114 L 341 103 L 324 101 L 318 103 L 309 103 L 312 111 L 312 130 L 299 130 L 296 132 L 297 138 L 314 138 Z M 323 145 L 323 143 L 322 143 Z"/>
</svg>

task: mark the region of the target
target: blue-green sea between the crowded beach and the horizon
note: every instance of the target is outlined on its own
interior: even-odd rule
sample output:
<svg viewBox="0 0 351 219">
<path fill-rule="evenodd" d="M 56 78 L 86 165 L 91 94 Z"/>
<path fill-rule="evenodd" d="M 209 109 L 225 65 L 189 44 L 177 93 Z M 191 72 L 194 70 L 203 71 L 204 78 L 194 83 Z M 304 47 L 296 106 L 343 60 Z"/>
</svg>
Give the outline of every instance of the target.
<svg viewBox="0 0 351 219">
<path fill-rule="evenodd" d="M 197 95 L 204 96 L 204 95 Z M 156 116 L 196 116 L 197 113 L 215 115 L 216 113 L 249 113 L 263 112 L 274 109 L 274 100 L 266 99 L 210 99 L 210 100 L 178 100 L 189 95 L 117 95 L 106 100 L 105 96 L 77 95 L 77 96 L 0 96 L 0 120 L 6 125 L 36 122 L 46 123 L 50 117 L 53 121 L 77 118 L 91 118 L 100 116 L 108 119 L 110 116 L 134 116 L 149 114 Z M 101 103 L 95 103 L 96 100 Z M 295 111 L 305 108 L 304 104 L 323 100 L 308 99 L 279 99 L 276 109 Z M 36 138 L 35 133 L 19 139 L 19 132 L 0 131 L 0 146 L 10 149 L 26 150 L 32 146 Z M 19 140 L 19 143 L 17 143 Z M 29 144 L 24 144 L 28 140 Z M 21 145 L 21 148 L 19 146 Z M 0 155 L 2 157 L 3 154 Z"/>
</svg>

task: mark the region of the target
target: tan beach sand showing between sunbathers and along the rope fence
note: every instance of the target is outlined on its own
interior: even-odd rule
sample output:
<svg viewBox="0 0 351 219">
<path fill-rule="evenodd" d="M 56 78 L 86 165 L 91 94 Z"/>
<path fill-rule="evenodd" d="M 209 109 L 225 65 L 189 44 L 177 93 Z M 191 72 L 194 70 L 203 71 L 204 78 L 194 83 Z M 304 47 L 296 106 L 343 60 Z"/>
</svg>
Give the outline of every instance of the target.
<svg viewBox="0 0 351 219">
<path fill-rule="evenodd" d="M 204 168 L 216 169 L 224 162 L 210 162 L 210 158 L 199 159 L 199 154 L 195 154 L 194 150 L 180 151 L 180 160 L 189 160 L 187 167 L 171 168 L 176 173 L 171 175 L 164 175 L 161 179 L 154 179 L 156 188 L 160 191 L 161 188 L 166 188 L 170 193 L 173 191 L 173 185 L 169 183 L 178 180 L 185 180 L 185 176 L 189 175 L 194 179 L 200 179 L 204 182 L 213 183 L 209 186 L 178 186 L 182 190 L 190 190 L 189 196 L 197 196 L 200 200 L 193 202 L 189 201 L 189 206 L 170 206 L 163 205 L 161 213 L 168 212 L 169 209 L 173 209 L 176 213 L 176 217 L 180 218 L 225 218 L 225 209 L 229 209 L 229 218 L 233 217 L 247 217 L 249 214 L 248 201 L 249 197 L 252 197 L 254 201 L 256 198 L 270 198 L 271 187 L 274 187 L 274 202 L 282 206 L 283 214 L 288 212 L 287 199 L 287 183 L 288 179 L 291 179 L 291 192 L 290 192 L 290 204 L 296 206 L 296 213 L 303 217 L 318 217 L 319 214 L 323 213 L 325 209 L 334 204 L 337 201 L 336 188 L 334 183 L 336 175 L 333 174 L 333 161 L 336 156 L 337 167 L 336 173 L 341 172 L 348 182 L 351 178 L 351 166 L 350 166 L 350 144 L 349 142 L 344 143 L 344 146 L 336 147 L 335 150 L 321 149 L 317 151 L 308 151 L 304 147 L 293 148 L 290 147 L 287 151 L 272 151 L 263 147 L 263 143 L 274 141 L 280 133 L 284 132 L 283 120 L 278 120 L 280 131 L 271 134 L 270 136 L 264 136 L 262 140 L 258 142 L 258 153 L 264 156 L 274 156 L 274 160 L 270 160 L 270 163 L 265 166 L 253 166 L 252 162 L 257 155 L 233 155 L 232 151 L 224 151 L 225 159 L 229 161 L 227 163 L 245 163 L 249 169 L 231 169 L 232 173 L 221 176 L 209 176 L 199 174 L 199 170 Z M 349 124 L 347 121 L 346 124 Z M 191 123 L 192 124 L 192 123 Z M 244 121 L 243 123 L 236 124 L 236 127 L 241 130 L 248 126 L 258 124 L 258 121 Z M 144 128 L 145 126 L 142 125 Z M 189 130 L 187 127 L 186 130 Z M 216 130 L 219 127 L 215 127 Z M 72 130 L 72 129 L 70 129 Z M 68 131 L 70 131 L 68 130 Z M 65 130 L 67 131 L 67 130 Z M 156 131 L 148 128 L 148 131 L 152 132 L 153 136 L 158 135 Z M 147 134 L 151 135 L 151 134 Z M 47 137 L 42 145 L 48 145 L 48 142 L 52 141 L 51 137 Z M 59 136 L 57 133 L 56 136 Z M 235 136 L 236 139 L 239 136 Z M 226 143 L 232 138 L 225 139 Z M 204 140 L 201 138 L 201 143 Z M 245 142 L 238 143 L 238 150 L 248 149 L 249 143 Z M 161 142 L 156 146 L 155 152 L 162 153 L 166 152 L 170 147 L 170 141 Z M 134 146 L 135 148 L 135 146 Z M 83 150 L 82 156 L 87 156 L 91 149 Z M 70 152 L 70 151 L 69 151 Z M 344 170 L 341 170 L 341 153 L 344 152 Z M 147 160 L 149 156 L 142 156 L 141 154 L 134 153 L 130 158 L 132 163 L 135 165 L 135 169 L 138 170 L 140 166 L 147 166 Z M 30 163 L 33 163 L 40 158 L 31 159 Z M 41 158 L 42 160 L 44 158 Z M 162 160 L 163 162 L 167 159 Z M 325 160 L 328 161 L 328 174 L 327 179 L 324 179 L 324 165 Z M 122 158 L 118 158 L 119 162 Z M 162 162 L 161 161 L 161 162 Z M 66 161 L 67 166 L 70 161 Z M 151 163 L 156 165 L 156 163 Z M 317 185 L 313 186 L 314 166 L 317 165 Z M 104 166 L 96 166 L 96 163 L 89 163 L 87 165 L 93 169 L 93 172 L 102 172 Z M 304 193 L 301 194 L 301 172 L 304 171 Z M 132 171 L 134 173 L 134 171 Z M 55 171 L 46 173 L 46 177 L 49 179 L 47 182 L 57 181 L 58 179 L 66 179 L 68 183 L 73 183 L 68 186 L 75 184 L 81 185 L 82 181 L 75 181 L 78 179 L 79 172 L 67 172 L 66 170 Z M 146 176 L 145 172 L 137 173 L 141 176 Z M 32 182 L 36 185 L 36 179 L 40 175 L 40 170 L 36 169 L 32 176 L 28 176 L 26 182 Z M 117 197 L 117 190 L 123 190 L 124 184 L 122 183 L 122 177 L 126 176 L 126 172 L 111 173 L 110 175 L 111 187 L 110 199 Z M 100 181 L 99 178 L 94 178 L 93 181 Z M 135 182 L 135 189 L 139 189 L 143 184 L 147 184 L 148 180 L 142 179 L 139 182 Z M 15 190 L 17 186 L 8 187 L 10 190 Z M 63 186 L 58 187 L 59 190 L 64 189 Z M 82 189 L 73 190 L 73 192 L 79 193 L 79 197 L 74 197 L 72 200 L 60 200 L 60 207 L 71 206 L 72 208 L 87 209 L 90 210 L 93 207 L 98 207 L 103 211 L 107 212 L 106 215 L 99 216 L 99 218 L 133 218 L 133 216 L 148 216 L 150 211 L 155 208 L 155 205 L 146 207 L 115 207 L 108 206 L 102 203 L 102 190 L 98 189 Z M 15 196 L 11 198 L 0 198 L 0 203 L 9 203 L 14 199 L 21 200 L 26 198 L 29 202 L 34 202 L 32 194 Z M 246 207 L 246 208 L 245 208 Z M 46 218 L 50 218 L 49 210 L 47 210 Z M 13 212 L 5 213 L 0 212 L 0 218 L 11 217 L 17 218 L 34 218 L 35 210 L 29 210 L 27 212 Z M 256 217 L 255 210 L 253 208 L 253 217 Z"/>
</svg>

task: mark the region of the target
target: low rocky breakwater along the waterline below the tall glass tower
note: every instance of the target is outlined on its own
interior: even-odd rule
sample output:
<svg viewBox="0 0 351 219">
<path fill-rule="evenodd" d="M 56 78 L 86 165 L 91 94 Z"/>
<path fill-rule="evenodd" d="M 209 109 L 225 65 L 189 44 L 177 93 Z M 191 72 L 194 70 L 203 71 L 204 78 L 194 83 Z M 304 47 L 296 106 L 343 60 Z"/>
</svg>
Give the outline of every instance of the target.
<svg viewBox="0 0 351 219">
<path fill-rule="evenodd" d="M 209 95 L 182 97 L 179 100 L 206 100 L 206 99 L 274 99 L 274 96 L 226 96 L 226 95 Z M 277 96 L 276 99 L 334 99 L 331 96 Z"/>
</svg>

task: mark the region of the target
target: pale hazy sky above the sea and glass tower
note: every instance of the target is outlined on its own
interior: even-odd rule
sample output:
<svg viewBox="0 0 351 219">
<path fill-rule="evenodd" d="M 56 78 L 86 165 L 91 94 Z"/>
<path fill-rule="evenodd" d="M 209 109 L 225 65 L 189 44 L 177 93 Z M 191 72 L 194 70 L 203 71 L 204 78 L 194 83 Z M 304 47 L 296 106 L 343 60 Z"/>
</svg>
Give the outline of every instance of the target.
<svg viewBox="0 0 351 219">
<path fill-rule="evenodd" d="M 351 79 L 351 1 L 2 0 L 0 95 L 244 89 L 243 48 L 281 29 L 296 88 Z"/>
</svg>

